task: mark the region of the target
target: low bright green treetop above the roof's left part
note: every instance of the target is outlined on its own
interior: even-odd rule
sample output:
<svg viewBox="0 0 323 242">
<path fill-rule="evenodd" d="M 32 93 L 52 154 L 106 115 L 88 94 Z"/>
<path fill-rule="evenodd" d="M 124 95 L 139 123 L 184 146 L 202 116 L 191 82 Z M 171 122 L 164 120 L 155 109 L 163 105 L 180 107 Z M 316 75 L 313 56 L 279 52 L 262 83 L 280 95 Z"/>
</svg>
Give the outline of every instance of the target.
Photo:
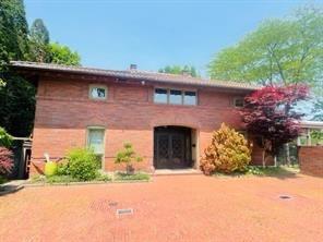
<svg viewBox="0 0 323 242">
<path fill-rule="evenodd" d="M 67 65 L 81 65 L 81 57 L 76 51 L 58 43 L 49 44 L 50 62 Z"/>
</svg>

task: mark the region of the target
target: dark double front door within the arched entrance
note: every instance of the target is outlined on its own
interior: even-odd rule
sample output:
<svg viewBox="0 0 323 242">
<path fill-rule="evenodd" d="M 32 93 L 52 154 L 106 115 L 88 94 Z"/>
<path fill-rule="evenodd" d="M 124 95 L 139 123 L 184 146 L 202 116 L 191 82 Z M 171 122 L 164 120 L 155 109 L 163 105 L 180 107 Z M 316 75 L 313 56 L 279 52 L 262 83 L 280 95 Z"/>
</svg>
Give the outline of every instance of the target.
<svg viewBox="0 0 323 242">
<path fill-rule="evenodd" d="M 155 129 L 154 166 L 156 169 L 186 168 L 191 164 L 191 133 L 187 128 Z"/>
</svg>

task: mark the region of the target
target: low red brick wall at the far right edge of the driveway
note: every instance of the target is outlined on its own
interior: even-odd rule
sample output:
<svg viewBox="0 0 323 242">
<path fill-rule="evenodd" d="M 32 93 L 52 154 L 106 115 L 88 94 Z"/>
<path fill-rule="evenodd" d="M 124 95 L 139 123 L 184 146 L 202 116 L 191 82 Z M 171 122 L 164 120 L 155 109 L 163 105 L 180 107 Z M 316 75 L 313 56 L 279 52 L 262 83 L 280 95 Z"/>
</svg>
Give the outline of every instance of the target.
<svg viewBox="0 0 323 242">
<path fill-rule="evenodd" d="M 302 173 L 323 177 L 323 146 L 300 146 L 298 157 Z"/>
</svg>

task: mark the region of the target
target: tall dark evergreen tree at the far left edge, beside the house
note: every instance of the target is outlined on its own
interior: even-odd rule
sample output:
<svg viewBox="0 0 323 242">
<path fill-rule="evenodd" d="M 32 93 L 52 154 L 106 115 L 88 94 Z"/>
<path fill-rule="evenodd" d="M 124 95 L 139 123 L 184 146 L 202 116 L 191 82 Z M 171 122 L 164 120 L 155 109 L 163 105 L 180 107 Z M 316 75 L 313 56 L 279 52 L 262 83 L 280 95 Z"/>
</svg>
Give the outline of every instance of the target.
<svg viewBox="0 0 323 242">
<path fill-rule="evenodd" d="M 0 126 L 27 136 L 34 119 L 35 88 L 8 69 L 11 60 L 27 60 L 28 26 L 22 0 L 0 1 Z"/>
</svg>

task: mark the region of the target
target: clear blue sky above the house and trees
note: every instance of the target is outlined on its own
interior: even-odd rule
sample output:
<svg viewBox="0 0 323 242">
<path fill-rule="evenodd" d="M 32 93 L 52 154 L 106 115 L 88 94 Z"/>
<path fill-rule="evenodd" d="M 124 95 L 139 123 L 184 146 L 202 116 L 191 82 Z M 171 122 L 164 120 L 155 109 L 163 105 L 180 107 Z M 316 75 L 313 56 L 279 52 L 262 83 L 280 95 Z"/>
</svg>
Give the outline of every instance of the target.
<svg viewBox="0 0 323 242">
<path fill-rule="evenodd" d="M 82 65 L 157 71 L 194 65 L 203 76 L 223 48 L 264 20 L 284 17 L 300 0 L 25 0 L 31 25 L 43 19 L 51 41 L 69 46 Z M 319 1 L 314 1 L 319 2 Z M 321 2 L 321 1 L 320 1 Z"/>
</svg>

